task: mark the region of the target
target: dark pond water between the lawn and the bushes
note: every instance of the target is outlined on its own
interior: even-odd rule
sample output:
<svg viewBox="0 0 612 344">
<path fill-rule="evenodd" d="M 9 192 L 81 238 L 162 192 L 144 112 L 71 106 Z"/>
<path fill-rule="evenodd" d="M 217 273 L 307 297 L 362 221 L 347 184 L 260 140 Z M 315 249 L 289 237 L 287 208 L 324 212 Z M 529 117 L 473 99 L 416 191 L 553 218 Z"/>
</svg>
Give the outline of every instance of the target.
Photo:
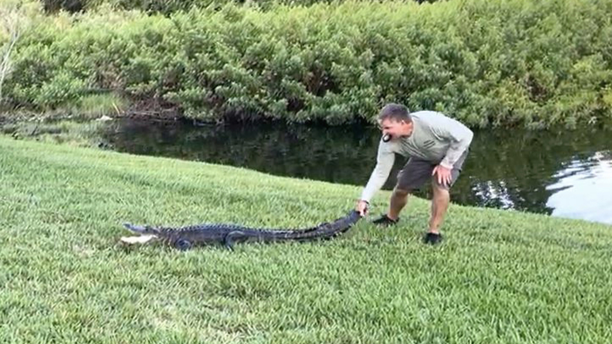
<svg viewBox="0 0 612 344">
<path fill-rule="evenodd" d="M 120 152 L 365 185 L 375 166 L 380 132 L 351 126 L 209 126 L 118 119 L 104 136 Z M 392 189 L 405 161 L 397 156 L 383 189 Z M 417 195 L 428 198 L 430 191 Z M 451 199 L 612 224 L 612 130 L 476 130 Z"/>
</svg>

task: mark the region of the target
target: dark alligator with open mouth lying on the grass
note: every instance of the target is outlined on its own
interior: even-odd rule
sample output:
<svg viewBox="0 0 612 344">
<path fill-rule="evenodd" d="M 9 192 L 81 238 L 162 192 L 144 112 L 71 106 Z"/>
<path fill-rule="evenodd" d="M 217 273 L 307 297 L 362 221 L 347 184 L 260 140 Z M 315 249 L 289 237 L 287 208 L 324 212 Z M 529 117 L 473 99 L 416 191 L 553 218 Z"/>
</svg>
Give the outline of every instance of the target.
<svg viewBox="0 0 612 344">
<path fill-rule="evenodd" d="M 344 217 L 333 222 L 323 222 L 319 225 L 299 230 L 274 230 L 268 228 L 252 228 L 234 224 L 203 223 L 184 227 L 137 226 L 123 223 L 124 227 L 140 236 L 122 237 L 121 241 L 130 244 L 136 242 L 161 241 L 179 250 L 189 250 L 196 245 L 222 244 L 233 250 L 238 242 L 277 242 L 277 241 L 313 241 L 331 239 L 345 233 L 361 215 L 351 210 Z"/>
</svg>

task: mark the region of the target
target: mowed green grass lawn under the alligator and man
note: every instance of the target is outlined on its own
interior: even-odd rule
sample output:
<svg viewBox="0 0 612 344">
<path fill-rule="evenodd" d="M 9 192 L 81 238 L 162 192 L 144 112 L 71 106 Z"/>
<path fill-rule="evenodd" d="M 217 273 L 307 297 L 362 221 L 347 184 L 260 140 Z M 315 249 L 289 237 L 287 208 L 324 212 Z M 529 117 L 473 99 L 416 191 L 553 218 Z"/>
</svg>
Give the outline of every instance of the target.
<svg viewBox="0 0 612 344">
<path fill-rule="evenodd" d="M 125 247 L 121 223 L 294 228 L 361 185 L 0 136 L 0 342 L 606 343 L 612 226 L 429 203 L 381 230 L 388 192 L 334 241 L 230 252 Z"/>
</svg>

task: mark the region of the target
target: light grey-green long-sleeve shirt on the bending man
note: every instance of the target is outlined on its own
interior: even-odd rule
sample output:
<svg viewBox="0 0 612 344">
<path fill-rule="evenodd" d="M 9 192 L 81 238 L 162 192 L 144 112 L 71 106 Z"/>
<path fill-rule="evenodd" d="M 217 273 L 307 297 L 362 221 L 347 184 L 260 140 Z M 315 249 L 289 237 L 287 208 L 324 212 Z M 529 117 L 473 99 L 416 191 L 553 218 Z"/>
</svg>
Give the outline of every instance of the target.
<svg viewBox="0 0 612 344">
<path fill-rule="evenodd" d="M 468 149 L 474 133 L 461 122 L 436 111 L 411 113 L 414 129 L 408 138 L 381 141 L 378 144 L 376 166 L 365 185 L 361 199 L 370 201 L 389 178 L 395 162 L 395 153 L 416 157 L 452 168 L 461 154 Z"/>
</svg>

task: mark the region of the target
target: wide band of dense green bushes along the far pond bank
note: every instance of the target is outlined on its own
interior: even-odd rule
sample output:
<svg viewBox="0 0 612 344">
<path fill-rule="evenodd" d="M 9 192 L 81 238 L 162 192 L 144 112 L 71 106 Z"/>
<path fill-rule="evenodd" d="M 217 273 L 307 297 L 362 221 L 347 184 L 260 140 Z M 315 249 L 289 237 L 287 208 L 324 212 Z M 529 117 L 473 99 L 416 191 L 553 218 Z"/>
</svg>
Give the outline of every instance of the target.
<svg viewBox="0 0 612 344">
<path fill-rule="evenodd" d="M 228 4 L 170 17 L 47 17 L 20 40 L 15 107 L 91 89 L 159 98 L 200 119 L 371 119 L 384 102 L 472 126 L 609 118 L 612 0 Z"/>
</svg>

